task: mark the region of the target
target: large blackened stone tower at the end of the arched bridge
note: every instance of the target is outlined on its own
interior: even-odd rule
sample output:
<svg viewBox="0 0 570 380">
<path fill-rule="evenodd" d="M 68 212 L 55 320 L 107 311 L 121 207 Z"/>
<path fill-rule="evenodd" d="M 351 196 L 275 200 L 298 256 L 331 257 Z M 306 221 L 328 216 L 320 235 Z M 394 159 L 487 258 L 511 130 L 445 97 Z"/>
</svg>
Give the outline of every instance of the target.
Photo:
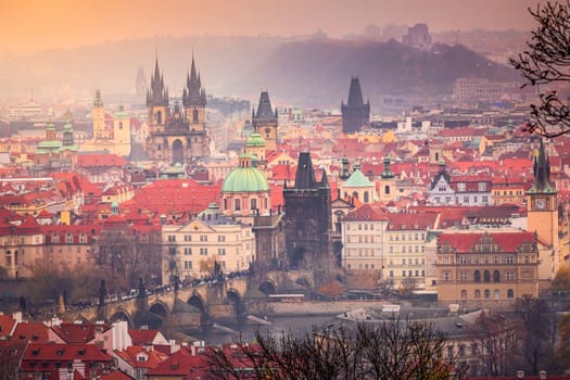
<svg viewBox="0 0 570 380">
<path fill-rule="evenodd" d="M 331 197 L 326 173 L 317 181 L 308 152 L 299 154 L 295 185 L 283 187 L 286 251 L 293 269 L 314 269 L 322 283 L 333 265 Z"/>
</svg>

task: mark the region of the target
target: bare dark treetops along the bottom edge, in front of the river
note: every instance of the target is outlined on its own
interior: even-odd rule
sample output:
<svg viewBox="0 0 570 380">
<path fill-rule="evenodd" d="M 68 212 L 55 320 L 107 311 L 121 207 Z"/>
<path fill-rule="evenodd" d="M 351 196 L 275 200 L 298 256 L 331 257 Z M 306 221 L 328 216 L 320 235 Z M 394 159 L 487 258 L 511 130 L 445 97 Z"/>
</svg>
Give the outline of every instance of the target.
<svg viewBox="0 0 570 380">
<path fill-rule="evenodd" d="M 210 377 L 447 380 L 458 371 L 453 358 L 442 358 L 445 337 L 431 325 L 417 321 L 393 319 L 351 329 L 328 326 L 301 335 L 257 333 L 256 341 L 255 345 L 240 345 L 235 353 L 227 350 L 207 353 Z"/>
</svg>

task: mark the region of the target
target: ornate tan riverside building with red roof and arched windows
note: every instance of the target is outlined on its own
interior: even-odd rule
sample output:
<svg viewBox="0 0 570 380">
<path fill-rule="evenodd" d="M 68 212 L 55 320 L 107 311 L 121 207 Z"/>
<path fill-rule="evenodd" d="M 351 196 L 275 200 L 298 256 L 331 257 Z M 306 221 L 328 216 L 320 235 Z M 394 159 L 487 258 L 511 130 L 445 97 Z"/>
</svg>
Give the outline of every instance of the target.
<svg viewBox="0 0 570 380">
<path fill-rule="evenodd" d="M 508 305 L 539 295 L 539 243 L 533 232 L 454 231 L 438 240 L 438 297 L 464 306 Z"/>
</svg>

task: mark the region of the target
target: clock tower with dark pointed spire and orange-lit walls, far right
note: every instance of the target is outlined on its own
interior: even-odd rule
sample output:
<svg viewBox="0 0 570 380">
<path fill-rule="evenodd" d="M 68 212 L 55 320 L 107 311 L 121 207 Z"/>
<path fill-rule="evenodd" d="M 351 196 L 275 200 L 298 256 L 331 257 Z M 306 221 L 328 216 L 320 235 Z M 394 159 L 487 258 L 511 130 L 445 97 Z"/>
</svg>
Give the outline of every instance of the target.
<svg viewBox="0 0 570 380">
<path fill-rule="evenodd" d="M 534 181 L 527 191 L 527 230 L 536 232 L 539 240 L 550 248 L 552 259 L 541 257 L 543 263 L 549 262 L 552 276 L 559 267 L 558 239 L 558 191 L 550 181 L 550 164 L 541 139 L 539 151 L 534 156 Z"/>
</svg>

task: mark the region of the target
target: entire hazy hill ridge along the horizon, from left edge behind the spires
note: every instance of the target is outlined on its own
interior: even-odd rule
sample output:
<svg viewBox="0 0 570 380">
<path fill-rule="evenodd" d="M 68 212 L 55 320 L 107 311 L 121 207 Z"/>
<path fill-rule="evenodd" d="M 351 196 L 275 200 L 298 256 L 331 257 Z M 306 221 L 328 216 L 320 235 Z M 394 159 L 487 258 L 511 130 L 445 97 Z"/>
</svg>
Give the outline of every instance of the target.
<svg viewBox="0 0 570 380">
<path fill-rule="evenodd" d="M 150 81 L 156 52 L 170 94 L 181 92 L 193 52 L 208 94 L 256 101 L 261 89 L 267 89 L 271 100 L 308 106 L 340 106 L 353 75 L 360 77 L 372 109 L 385 94 L 451 93 L 457 77 L 518 79 L 512 68 L 463 46 L 435 46 L 425 52 L 394 40 L 166 36 L 0 58 L 0 97 L 29 94 L 31 88 L 38 99 L 55 101 L 90 99 L 97 87 L 103 97 L 130 93 L 139 65 Z"/>
</svg>

